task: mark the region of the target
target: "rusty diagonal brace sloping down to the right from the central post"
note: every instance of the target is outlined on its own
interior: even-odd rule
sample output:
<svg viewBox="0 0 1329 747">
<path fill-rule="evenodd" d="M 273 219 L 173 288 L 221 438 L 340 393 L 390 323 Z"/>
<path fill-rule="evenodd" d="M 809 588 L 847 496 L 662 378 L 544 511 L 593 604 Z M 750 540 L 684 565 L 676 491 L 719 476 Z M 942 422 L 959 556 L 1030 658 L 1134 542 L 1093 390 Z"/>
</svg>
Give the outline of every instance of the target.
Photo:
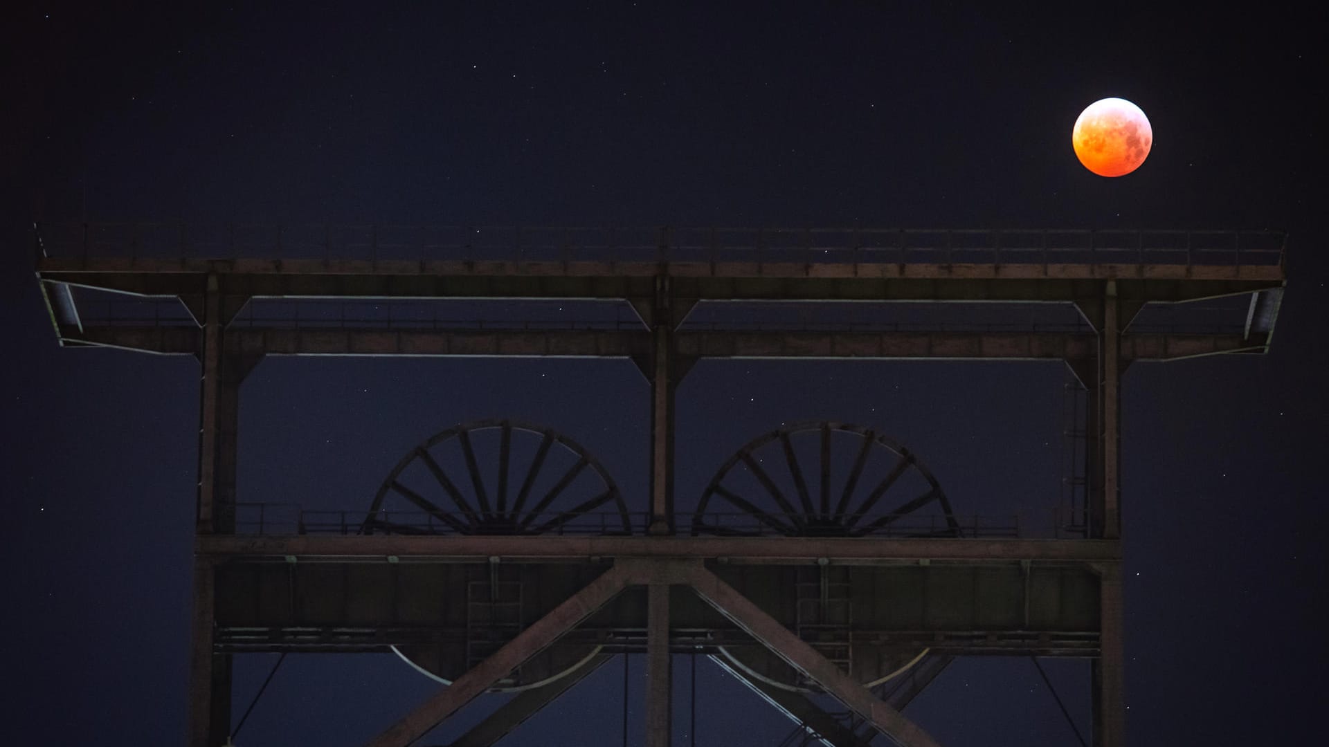
<svg viewBox="0 0 1329 747">
<path fill-rule="evenodd" d="M 812 678 L 827 693 L 839 698 L 849 710 L 863 716 L 873 728 L 901 747 L 940 747 L 916 723 L 880 700 L 867 687 L 841 671 L 840 667 L 780 625 L 762 607 L 734 590 L 720 577 L 698 565 L 691 569 L 688 582 L 720 614 L 734 621 L 791 666 Z"/>
</svg>

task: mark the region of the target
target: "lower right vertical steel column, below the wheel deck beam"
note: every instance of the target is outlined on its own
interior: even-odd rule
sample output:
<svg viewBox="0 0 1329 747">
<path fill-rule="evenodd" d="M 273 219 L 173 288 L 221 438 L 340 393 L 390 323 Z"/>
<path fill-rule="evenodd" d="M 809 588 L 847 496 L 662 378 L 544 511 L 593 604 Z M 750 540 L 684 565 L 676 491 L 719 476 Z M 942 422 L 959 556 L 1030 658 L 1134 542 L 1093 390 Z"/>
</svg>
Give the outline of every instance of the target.
<svg viewBox="0 0 1329 747">
<path fill-rule="evenodd" d="M 1094 747 L 1126 744 L 1126 649 L 1122 618 L 1122 566 L 1099 568 L 1099 658 L 1092 659 Z"/>
</svg>

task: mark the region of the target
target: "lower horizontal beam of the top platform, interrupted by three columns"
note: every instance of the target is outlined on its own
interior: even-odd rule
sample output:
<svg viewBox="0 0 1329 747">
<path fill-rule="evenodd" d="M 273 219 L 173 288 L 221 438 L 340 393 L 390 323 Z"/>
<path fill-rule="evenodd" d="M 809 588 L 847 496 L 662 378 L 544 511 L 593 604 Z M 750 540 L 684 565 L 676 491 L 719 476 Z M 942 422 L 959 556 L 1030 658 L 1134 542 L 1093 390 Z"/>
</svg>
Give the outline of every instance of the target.
<svg viewBox="0 0 1329 747">
<path fill-rule="evenodd" d="M 193 327 L 85 326 L 61 328 L 66 346 L 197 355 Z M 815 360 L 1075 360 L 1096 356 L 1092 334 L 1074 332 L 800 332 L 698 331 L 672 334 L 690 358 Z M 1120 336 L 1122 360 L 1180 360 L 1265 352 L 1268 336 L 1138 332 Z M 650 332 L 625 330 L 371 330 L 231 327 L 226 347 L 245 355 L 651 358 Z M 676 381 L 675 381 L 676 384 Z"/>
</svg>

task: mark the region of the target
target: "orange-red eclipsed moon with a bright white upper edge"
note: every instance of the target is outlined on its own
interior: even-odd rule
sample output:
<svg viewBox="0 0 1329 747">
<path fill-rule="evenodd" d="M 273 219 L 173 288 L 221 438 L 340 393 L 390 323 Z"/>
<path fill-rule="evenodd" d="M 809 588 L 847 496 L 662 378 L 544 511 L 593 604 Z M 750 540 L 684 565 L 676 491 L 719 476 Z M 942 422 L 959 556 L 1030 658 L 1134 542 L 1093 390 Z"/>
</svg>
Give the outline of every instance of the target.
<svg viewBox="0 0 1329 747">
<path fill-rule="evenodd" d="M 1090 104 L 1071 130 L 1075 157 L 1100 177 L 1122 177 L 1140 167 L 1154 145 L 1154 128 L 1139 106 L 1124 98 Z"/>
</svg>

